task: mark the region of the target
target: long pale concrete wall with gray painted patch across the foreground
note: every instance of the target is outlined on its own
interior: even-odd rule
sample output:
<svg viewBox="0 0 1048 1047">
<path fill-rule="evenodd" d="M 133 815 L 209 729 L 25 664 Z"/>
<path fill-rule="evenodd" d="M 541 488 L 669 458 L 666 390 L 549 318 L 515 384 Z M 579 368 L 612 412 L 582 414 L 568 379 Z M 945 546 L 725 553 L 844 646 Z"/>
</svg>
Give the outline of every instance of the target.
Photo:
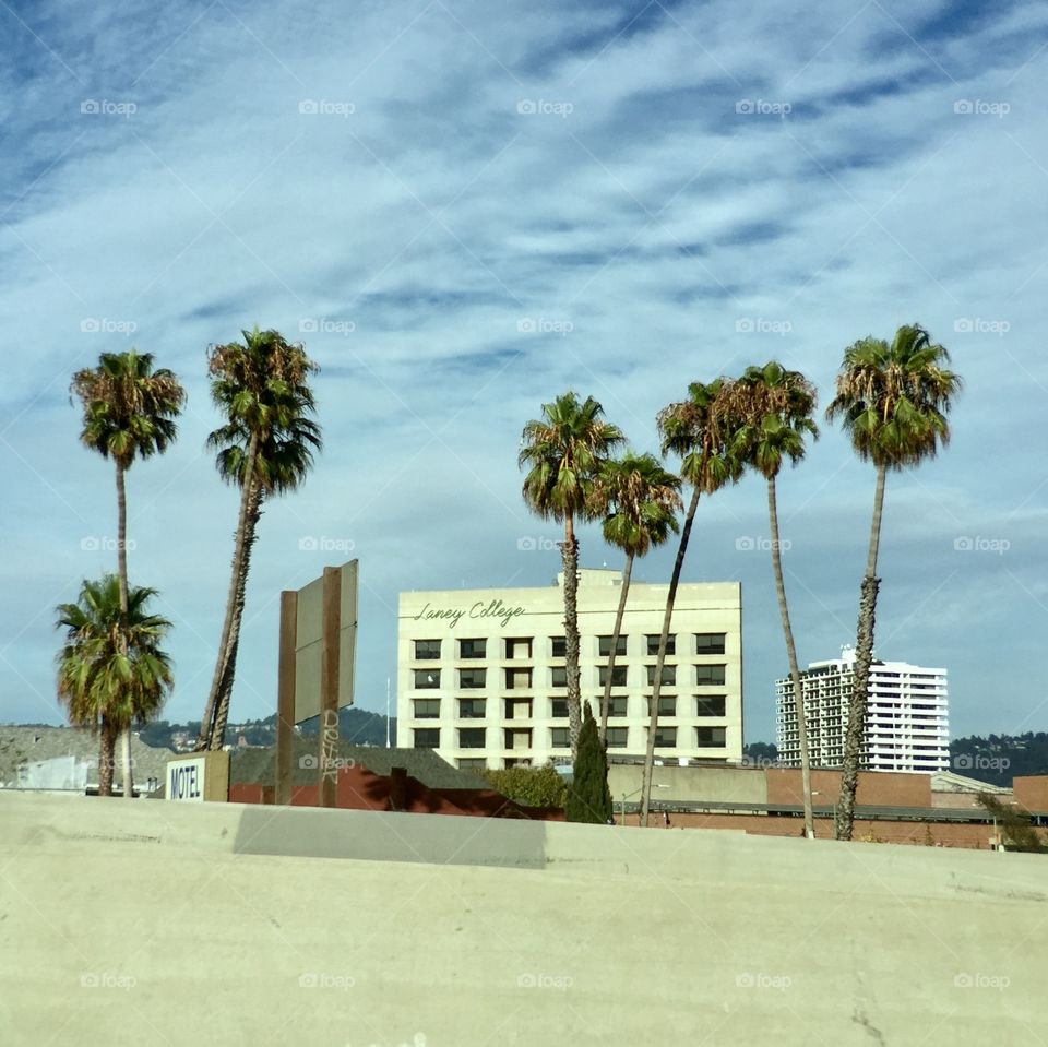
<svg viewBox="0 0 1048 1047">
<path fill-rule="evenodd" d="M 3 1042 L 1048 1042 L 1040 856 L 537 828 L 0 794 Z"/>
</svg>

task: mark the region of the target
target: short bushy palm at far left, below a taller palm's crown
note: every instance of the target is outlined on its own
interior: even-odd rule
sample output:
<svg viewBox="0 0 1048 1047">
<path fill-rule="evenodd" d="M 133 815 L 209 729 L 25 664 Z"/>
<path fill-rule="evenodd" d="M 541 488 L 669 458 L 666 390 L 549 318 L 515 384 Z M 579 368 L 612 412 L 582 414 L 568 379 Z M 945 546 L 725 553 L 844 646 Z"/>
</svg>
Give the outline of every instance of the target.
<svg viewBox="0 0 1048 1047">
<path fill-rule="evenodd" d="M 132 586 L 127 606 L 120 579 L 84 581 L 75 604 L 60 604 L 57 628 L 66 642 L 57 658 L 58 697 L 72 724 L 99 733 L 98 795 L 112 795 L 117 735 L 153 719 L 172 685 L 171 664 L 160 650 L 170 629 L 146 604 L 156 590 Z M 123 795 L 132 795 L 124 769 Z"/>
</svg>

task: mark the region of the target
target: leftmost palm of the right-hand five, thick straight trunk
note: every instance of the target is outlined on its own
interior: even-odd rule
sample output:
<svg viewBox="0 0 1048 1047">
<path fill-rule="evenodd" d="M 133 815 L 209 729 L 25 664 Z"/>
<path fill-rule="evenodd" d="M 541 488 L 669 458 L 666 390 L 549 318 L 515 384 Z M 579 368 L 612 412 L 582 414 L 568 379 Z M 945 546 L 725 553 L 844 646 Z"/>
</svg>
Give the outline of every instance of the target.
<svg viewBox="0 0 1048 1047">
<path fill-rule="evenodd" d="M 592 396 L 580 402 L 569 391 L 543 404 L 541 418 L 524 426 L 519 457 L 524 501 L 544 520 L 564 525 L 560 551 L 564 564 L 564 661 L 568 673 L 568 725 L 572 762 L 579 757 L 582 700 L 579 682 L 579 540 L 575 521 L 597 514 L 593 484 L 600 466 L 623 443 L 617 426 L 604 419 L 604 408 Z"/>
</svg>

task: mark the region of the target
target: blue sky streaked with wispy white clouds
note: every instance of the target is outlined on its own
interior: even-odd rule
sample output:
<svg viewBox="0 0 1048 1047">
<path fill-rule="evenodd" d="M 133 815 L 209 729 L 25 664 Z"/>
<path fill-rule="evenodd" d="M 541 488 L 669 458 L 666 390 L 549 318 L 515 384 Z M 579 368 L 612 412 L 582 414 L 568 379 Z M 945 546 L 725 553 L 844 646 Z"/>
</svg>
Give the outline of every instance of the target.
<svg viewBox="0 0 1048 1047">
<path fill-rule="evenodd" d="M 0 718 L 61 721 L 53 608 L 115 559 L 68 397 L 103 350 L 189 391 L 129 478 L 172 719 L 203 709 L 236 522 L 205 347 L 259 323 L 322 367 L 324 454 L 260 524 L 246 718 L 274 709 L 279 591 L 341 549 L 367 709 L 398 592 L 549 582 L 556 549 L 517 547 L 556 538 L 515 464 L 544 401 L 592 394 L 654 449 L 689 381 L 774 357 L 824 404 L 850 342 L 918 321 L 966 390 L 949 451 L 890 478 L 878 653 L 949 668 L 955 735 L 1045 729 L 1048 8 L 0 0 Z M 782 478 L 803 663 L 854 636 L 872 480 L 826 426 Z M 686 567 L 743 584 L 748 740 L 785 662 L 765 513 L 755 478 L 711 499 Z M 618 563 L 593 528 L 582 559 Z"/>
</svg>

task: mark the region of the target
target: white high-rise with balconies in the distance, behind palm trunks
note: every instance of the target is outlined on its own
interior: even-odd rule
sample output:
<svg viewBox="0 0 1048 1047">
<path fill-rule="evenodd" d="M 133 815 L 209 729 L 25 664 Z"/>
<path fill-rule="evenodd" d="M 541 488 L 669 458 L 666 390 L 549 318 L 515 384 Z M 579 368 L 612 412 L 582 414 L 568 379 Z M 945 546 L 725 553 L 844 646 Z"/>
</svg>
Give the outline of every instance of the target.
<svg viewBox="0 0 1048 1047">
<path fill-rule="evenodd" d="M 855 679 L 855 650 L 839 658 L 812 662 L 801 670 L 808 750 L 813 768 L 839 768 Z M 800 739 L 794 687 L 775 681 L 776 743 L 782 763 L 800 766 Z M 866 771 L 920 771 L 950 768 L 950 714 L 946 670 L 906 662 L 870 667 L 870 698 L 859 766 Z"/>
</svg>

